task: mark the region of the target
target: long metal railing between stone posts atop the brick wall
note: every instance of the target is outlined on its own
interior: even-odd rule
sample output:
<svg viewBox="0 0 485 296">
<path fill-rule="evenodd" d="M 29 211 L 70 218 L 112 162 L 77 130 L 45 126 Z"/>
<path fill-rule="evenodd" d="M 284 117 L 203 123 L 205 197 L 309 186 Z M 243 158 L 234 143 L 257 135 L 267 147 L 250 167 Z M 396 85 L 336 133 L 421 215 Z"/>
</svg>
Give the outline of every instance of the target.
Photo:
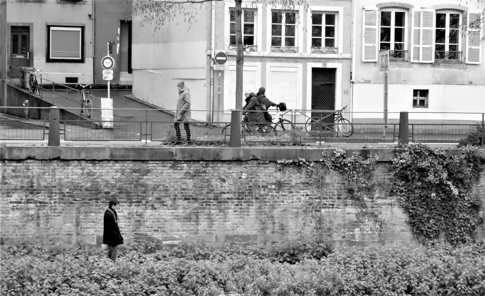
<svg viewBox="0 0 485 296">
<path fill-rule="evenodd" d="M 28 109 L 29 112 L 34 111 L 32 109 L 41 109 L 40 107 L 2 108 Z M 80 108 L 65 108 L 62 110 L 64 112 L 78 113 Z M 177 139 L 173 115 L 167 114 L 175 110 L 114 109 L 113 111 L 115 114 L 113 121 L 65 120 L 59 118 L 60 139 L 89 143 L 122 141 L 142 144 L 185 143 L 188 140 L 183 124 L 180 124 L 180 141 Z M 277 123 L 278 119 L 275 114 L 273 115 L 274 121 L 271 124 L 247 123 L 238 120 L 241 126 L 240 142 L 242 145 L 262 143 L 322 145 L 325 142 L 393 143 L 401 140 L 403 142 L 461 143 L 484 146 L 485 113 L 467 113 L 470 118 L 472 115 L 475 117 L 476 120 L 474 121 L 420 123 L 414 120 L 407 123 L 399 122 L 395 119 L 394 122 L 385 124 L 382 122 L 382 119 L 358 119 L 354 118 L 358 115 L 357 113 L 346 112 L 344 114 L 345 118 L 354 118 L 351 125 L 352 133 L 348 135 L 349 126 L 343 126 L 340 122 L 324 122 L 325 116 L 332 114 L 332 110 L 328 111 L 330 112 L 321 112 L 320 118 L 323 120 L 323 124 L 319 125 L 317 130 L 315 130 L 315 126 L 309 124 L 308 119 L 310 114 L 318 114 L 319 110 L 287 110 L 281 113 L 282 118 L 286 120 L 282 123 Z M 29 112 L 25 112 L 25 114 Z M 101 110 L 97 109 L 97 112 L 101 113 Z M 199 114 L 197 114 L 198 112 Z M 231 126 L 229 124 L 231 122 L 231 114 L 222 110 L 192 110 L 192 113 L 193 118 L 203 117 L 201 116 L 202 114 L 216 114 L 214 118 L 218 119 L 190 121 L 190 142 L 230 143 Z M 208 117 L 210 116 L 208 115 Z M 407 124 L 407 128 L 405 128 L 403 136 L 401 133 L 404 130 L 400 131 L 400 126 L 405 124 Z M 32 120 L 1 114 L 0 140 L 46 140 L 46 135 L 49 135 L 50 125 L 52 125 L 52 122 L 49 122 L 49 120 Z M 347 134 L 340 132 L 343 127 L 347 129 Z"/>
</svg>

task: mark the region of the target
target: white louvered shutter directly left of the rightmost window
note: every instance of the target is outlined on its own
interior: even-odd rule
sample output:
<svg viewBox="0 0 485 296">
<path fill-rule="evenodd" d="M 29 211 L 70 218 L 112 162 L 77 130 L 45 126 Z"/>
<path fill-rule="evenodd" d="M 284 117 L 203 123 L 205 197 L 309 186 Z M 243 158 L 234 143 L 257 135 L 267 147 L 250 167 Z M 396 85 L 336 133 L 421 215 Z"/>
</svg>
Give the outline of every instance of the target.
<svg viewBox="0 0 485 296">
<path fill-rule="evenodd" d="M 422 9 L 420 62 L 435 61 L 435 18 L 435 10 Z"/>
</svg>

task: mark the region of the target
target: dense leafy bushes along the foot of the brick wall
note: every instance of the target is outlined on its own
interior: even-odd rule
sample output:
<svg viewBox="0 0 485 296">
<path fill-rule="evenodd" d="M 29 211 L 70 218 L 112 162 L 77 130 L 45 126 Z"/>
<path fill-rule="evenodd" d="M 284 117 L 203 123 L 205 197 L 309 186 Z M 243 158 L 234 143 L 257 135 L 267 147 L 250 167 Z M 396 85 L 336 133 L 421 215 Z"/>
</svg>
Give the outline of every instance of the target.
<svg viewBox="0 0 485 296">
<path fill-rule="evenodd" d="M 160 256 L 161 252 L 138 252 L 124 246 L 120 258 L 113 264 L 100 249 L 61 246 L 29 249 L 22 245 L 3 248 L 0 293 L 34 296 L 485 295 L 483 243 L 439 249 L 340 247 L 326 258 L 303 259 L 295 264 L 235 250 L 238 248 L 227 253 L 219 250 L 217 259 L 208 256 L 208 259 L 194 260 L 166 257 L 168 250 L 162 250 L 165 255 Z M 190 254 L 194 253 L 199 252 Z"/>
</svg>

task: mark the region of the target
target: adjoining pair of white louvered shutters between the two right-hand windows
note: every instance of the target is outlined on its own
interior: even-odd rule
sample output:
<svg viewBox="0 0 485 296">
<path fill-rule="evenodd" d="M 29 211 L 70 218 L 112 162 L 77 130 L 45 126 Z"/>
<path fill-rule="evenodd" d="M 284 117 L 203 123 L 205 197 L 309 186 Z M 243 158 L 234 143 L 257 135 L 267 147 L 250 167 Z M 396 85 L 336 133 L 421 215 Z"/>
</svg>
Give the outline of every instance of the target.
<svg viewBox="0 0 485 296">
<path fill-rule="evenodd" d="M 411 36 L 411 62 L 435 61 L 435 11 L 413 10 Z"/>
</svg>

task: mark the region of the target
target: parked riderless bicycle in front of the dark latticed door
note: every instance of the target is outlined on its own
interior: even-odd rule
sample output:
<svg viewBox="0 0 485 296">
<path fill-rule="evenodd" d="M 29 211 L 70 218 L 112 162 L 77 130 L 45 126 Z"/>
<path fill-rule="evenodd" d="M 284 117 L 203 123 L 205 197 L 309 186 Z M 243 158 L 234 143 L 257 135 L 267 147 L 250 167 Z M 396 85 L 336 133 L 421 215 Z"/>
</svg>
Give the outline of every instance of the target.
<svg viewBox="0 0 485 296">
<path fill-rule="evenodd" d="M 335 111 L 332 114 L 333 117 L 333 123 L 325 123 L 323 122 L 323 118 L 321 117 L 310 117 L 307 120 L 307 124 L 305 125 L 305 129 L 307 130 L 307 133 L 310 134 L 311 136 L 318 136 L 320 135 L 323 131 L 331 130 L 333 131 L 333 125 L 337 125 L 337 131 L 340 133 L 340 135 L 344 137 L 350 137 L 354 133 L 354 125 L 348 120 L 343 118 L 342 116 L 342 111 L 345 110 L 347 106 L 343 107 L 340 110 Z"/>
</svg>

